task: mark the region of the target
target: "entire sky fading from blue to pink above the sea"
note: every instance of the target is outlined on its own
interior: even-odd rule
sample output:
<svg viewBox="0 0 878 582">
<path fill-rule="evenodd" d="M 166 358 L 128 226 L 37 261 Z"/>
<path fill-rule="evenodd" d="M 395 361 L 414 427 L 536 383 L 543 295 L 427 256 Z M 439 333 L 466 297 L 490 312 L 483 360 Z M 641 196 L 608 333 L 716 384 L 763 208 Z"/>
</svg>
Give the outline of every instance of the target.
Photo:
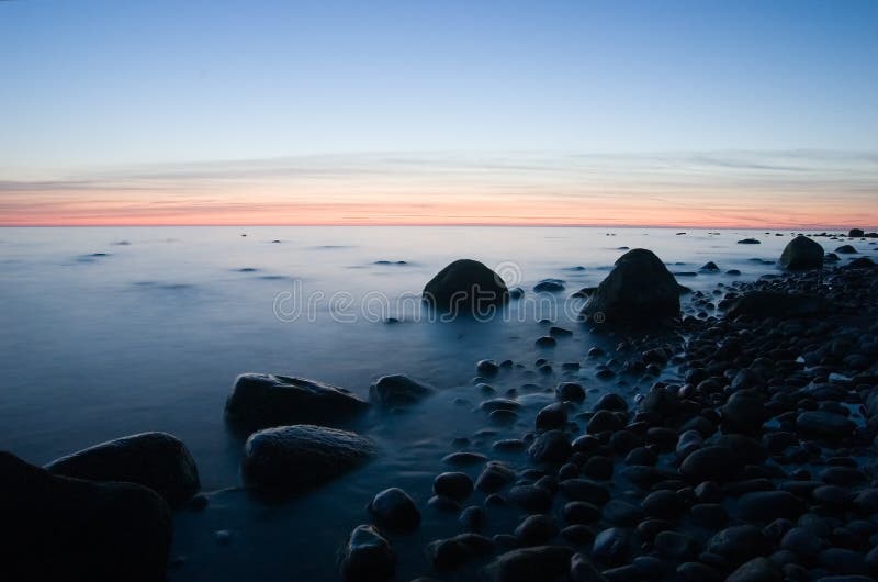
<svg viewBox="0 0 878 582">
<path fill-rule="evenodd" d="M 0 225 L 878 226 L 874 0 L 0 0 Z"/>
</svg>

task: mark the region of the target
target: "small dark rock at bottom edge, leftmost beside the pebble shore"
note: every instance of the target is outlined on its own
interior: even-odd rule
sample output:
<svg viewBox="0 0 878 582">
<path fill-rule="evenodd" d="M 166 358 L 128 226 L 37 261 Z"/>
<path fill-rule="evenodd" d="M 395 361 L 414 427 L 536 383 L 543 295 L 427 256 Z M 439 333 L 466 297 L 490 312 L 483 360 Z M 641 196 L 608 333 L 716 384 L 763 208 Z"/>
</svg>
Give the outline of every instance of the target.
<svg viewBox="0 0 878 582">
<path fill-rule="evenodd" d="M 341 549 L 345 582 L 384 582 L 396 572 L 396 555 L 390 542 L 371 525 L 358 525 Z"/>
</svg>

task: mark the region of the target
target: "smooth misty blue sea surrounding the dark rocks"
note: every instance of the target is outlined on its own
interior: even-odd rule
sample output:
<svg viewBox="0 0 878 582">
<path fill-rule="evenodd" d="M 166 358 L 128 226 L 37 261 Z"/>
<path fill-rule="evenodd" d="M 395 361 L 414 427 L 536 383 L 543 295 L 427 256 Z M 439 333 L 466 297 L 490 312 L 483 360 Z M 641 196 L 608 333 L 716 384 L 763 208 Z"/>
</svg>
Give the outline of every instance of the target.
<svg viewBox="0 0 878 582">
<path fill-rule="evenodd" d="M 587 366 L 562 376 L 560 363 L 584 361 L 586 350 L 600 344 L 563 307 L 571 292 L 606 276 L 623 253 L 619 247 L 650 248 L 672 271 L 697 271 L 713 260 L 722 271 L 735 268 L 742 279 L 754 279 L 777 272 L 776 265 L 753 259 L 776 259 L 789 240 L 784 235 L 502 227 L 0 230 L 0 446 L 44 463 L 122 435 L 169 432 L 192 450 L 204 490 L 216 492 L 203 514 L 178 514 L 175 555 L 183 560 L 171 569 L 172 580 L 336 580 L 335 549 L 367 519 L 363 507 L 375 492 L 399 485 L 426 502 L 440 459 L 453 450 L 452 438 L 474 438 L 471 448 L 487 451 L 493 438 L 528 428 L 473 437 L 487 426 L 472 410 L 480 401 L 471 384 L 475 361 L 511 358 L 526 365 L 497 379 L 499 392 L 579 377 L 597 390 L 614 387 L 592 379 Z M 750 236 L 763 244 L 735 244 Z M 818 240 L 828 250 L 841 244 Z M 417 302 L 404 299 L 462 257 L 499 266 L 529 298 L 548 277 L 565 280 L 566 291 L 538 306 L 513 303 L 491 323 L 424 321 Z M 734 279 L 678 278 L 696 290 Z M 387 325 L 387 316 L 402 323 Z M 538 349 L 533 342 L 545 331 L 541 316 L 574 336 L 553 350 Z M 558 362 L 559 371 L 533 372 L 539 357 Z M 405 414 L 370 413 L 359 423 L 356 428 L 382 447 L 365 469 L 303 499 L 266 505 L 234 489 L 243 441 L 223 422 L 232 382 L 245 371 L 304 376 L 361 394 L 376 377 L 403 372 L 443 390 Z M 522 402 L 537 408 L 548 399 L 537 391 Z M 419 531 L 394 539 L 403 553 L 399 580 L 429 573 L 421 556 L 428 538 L 421 536 L 457 530 L 453 516 L 424 513 Z M 503 525 L 500 517 L 489 529 Z M 214 539 L 221 529 L 232 533 L 227 546 Z"/>
</svg>

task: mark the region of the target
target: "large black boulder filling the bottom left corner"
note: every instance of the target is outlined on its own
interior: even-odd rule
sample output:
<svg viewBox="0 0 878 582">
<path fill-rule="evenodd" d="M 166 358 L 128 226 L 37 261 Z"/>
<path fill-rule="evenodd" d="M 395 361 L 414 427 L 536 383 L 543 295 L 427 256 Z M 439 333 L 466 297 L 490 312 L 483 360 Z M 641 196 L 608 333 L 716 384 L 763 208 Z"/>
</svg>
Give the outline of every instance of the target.
<svg viewBox="0 0 878 582">
<path fill-rule="evenodd" d="M 161 582 L 171 511 L 135 483 L 54 475 L 0 452 L 3 580 Z"/>
</svg>

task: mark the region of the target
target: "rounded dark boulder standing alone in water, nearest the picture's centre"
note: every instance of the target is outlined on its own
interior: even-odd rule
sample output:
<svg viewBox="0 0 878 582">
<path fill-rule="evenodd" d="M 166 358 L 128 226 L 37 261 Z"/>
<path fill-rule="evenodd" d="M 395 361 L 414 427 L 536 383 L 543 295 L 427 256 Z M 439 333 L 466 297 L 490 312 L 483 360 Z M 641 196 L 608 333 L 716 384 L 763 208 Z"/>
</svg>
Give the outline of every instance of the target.
<svg viewBox="0 0 878 582">
<path fill-rule="evenodd" d="M 485 313 L 508 299 L 500 276 L 472 259 L 455 260 L 424 287 L 424 301 L 442 311 Z"/>
</svg>

